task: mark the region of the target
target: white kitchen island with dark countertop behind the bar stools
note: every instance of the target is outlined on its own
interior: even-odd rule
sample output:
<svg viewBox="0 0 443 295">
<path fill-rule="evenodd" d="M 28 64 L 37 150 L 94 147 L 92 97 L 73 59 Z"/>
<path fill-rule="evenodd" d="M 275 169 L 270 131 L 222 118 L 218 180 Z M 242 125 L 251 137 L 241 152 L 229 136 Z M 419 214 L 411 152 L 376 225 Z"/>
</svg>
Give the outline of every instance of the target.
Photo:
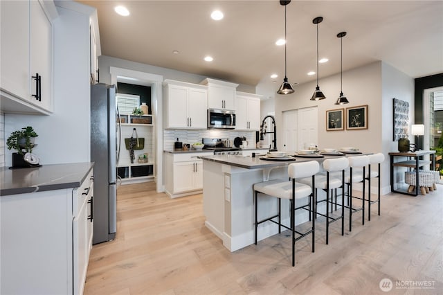
<svg viewBox="0 0 443 295">
<path fill-rule="evenodd" d="M 287 179 L 287 166 L 293 161 L 264 161 L 260 157 L 234 155 L 203 156 L 203 206 L 205 224 L 230 251 L 254 243 L 255 213 L 253 184 L 267 179 Z M 323 161 L 325 158 L 318 159 Z M 297 158 L 296 161 L 311 161 Z M 306 198 L 307 199 L 307 198 Z M 303 200 L 301 200 L 303 202 Z M 307 202 L 307 201 L 306 201 Z M 301 203 L 300 203 L 301 204 Z M 282 223 L 289 223 L 289 200 L 282 199 Z M 260 196 L 258 219 L 275 215 L 274 197 Z M 318 211 L 323 208 L 318 206 Z M 308 220 L 308 214 L 296 216 L 296 224 Z M 278 225 L 267 222 L 257 229 L 257 240 L 278 233 Z"/>
</svg>

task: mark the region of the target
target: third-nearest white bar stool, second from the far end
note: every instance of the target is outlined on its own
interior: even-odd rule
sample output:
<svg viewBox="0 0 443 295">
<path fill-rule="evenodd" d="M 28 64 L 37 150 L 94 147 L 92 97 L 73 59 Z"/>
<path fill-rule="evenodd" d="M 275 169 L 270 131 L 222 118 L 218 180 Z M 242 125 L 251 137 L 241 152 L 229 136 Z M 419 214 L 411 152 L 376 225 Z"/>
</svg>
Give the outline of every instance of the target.
<svg viewBox="0 0 443 295">
<path fill-rule="evenodd" d="M 352 214 L 361 211 L 361 224 L 365 224 L 365 168 L 369 165 L 368 156 L 349 157 L 349 172 L 345 173 L 345 184 L 347 184 L 347 199 L 349 208 L 349 231 L 352 231 Z M 352 184 L 363 183 L 362 197 L 352 195 Z M 352 207 L 352 199 L 361 199 L 361 207 Z"/>
</svg>

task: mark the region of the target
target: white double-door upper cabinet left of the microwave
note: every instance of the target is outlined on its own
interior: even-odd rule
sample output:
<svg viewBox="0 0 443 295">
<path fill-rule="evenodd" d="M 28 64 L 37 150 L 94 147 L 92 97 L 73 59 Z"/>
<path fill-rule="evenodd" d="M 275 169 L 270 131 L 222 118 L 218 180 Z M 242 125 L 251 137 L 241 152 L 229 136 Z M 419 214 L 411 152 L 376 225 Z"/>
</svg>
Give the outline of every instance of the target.
<svg viewBox="0 0 443 295">
<path fill-rule="evenodd" d="M 165 80 L 165 127 L 206 129 L 206 86 Z"/>
</svg>

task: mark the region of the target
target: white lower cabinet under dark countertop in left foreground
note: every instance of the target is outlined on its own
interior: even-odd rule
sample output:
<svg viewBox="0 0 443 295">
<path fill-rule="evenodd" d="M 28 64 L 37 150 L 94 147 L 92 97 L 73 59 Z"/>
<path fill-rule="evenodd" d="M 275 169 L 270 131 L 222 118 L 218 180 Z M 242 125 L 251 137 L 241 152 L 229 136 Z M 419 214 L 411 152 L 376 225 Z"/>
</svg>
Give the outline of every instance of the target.
<svg viewBox="0 0 443 295">
<path fill-rule="evenodd" d="M 82 294 L 92 247 L 92 170 L 80 188 L 0 202 L 0 294 Z"/>
</svg>

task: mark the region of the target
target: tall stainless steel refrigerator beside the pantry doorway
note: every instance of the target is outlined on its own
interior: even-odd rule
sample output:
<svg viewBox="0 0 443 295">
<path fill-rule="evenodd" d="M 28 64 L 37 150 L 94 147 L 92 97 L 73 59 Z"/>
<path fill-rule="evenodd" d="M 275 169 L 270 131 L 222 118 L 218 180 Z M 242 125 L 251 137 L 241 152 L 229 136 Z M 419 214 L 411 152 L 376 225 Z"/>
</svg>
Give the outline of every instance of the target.
<svg viewBox="0 0 443 295">
<path fill-rule="evenodd" d="M 91 161 L 94 165 L 93 244 L 113 240 L 117 230 L 117 157 L 120 140 L 116 86 L 91 85 Z"/>
</svg>

